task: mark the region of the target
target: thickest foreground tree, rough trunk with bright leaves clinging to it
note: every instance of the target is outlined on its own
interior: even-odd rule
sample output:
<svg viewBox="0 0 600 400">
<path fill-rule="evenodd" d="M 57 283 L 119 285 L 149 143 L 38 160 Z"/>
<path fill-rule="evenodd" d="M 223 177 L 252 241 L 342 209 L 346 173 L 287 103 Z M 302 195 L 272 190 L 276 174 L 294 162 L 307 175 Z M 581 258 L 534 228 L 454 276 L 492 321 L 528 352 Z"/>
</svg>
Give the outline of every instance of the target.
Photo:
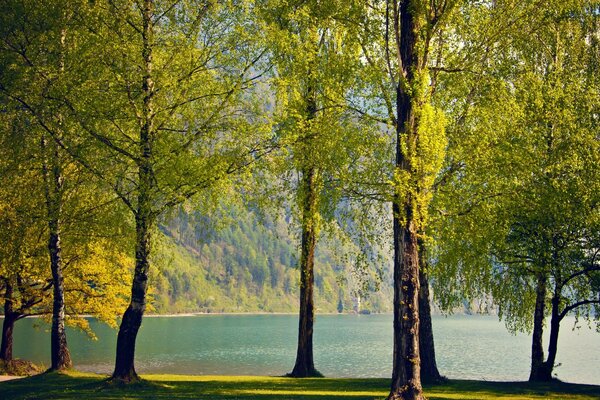
<svg viewBox="0 0 600 400">
<path fill-rule="evenodd" d="M 445 147 L 442 113 L 431 105 L 430 44 L 455 2 L 393 1 L 369 9 L 363 54 L 375 72 L 395 137 L 394 367 L 390 399 L 424 398 L 419 356 L 419 233 Z M 374 39 L 374 40 L 373 40 Z"/>
</svg>

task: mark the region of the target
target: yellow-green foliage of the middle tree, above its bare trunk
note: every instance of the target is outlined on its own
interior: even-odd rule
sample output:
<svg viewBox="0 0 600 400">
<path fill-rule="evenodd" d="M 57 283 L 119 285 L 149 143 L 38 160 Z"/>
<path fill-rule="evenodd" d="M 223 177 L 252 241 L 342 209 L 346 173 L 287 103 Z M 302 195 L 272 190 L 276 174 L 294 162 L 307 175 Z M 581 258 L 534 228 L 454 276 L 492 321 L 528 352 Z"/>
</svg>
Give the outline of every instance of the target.
<svg viewBox="0 0 600 400">
<path fill-rule="evenodd" d="M 257 5 L 261 40 L 272 64 L 267 91 L 279 151 L 255 172 L 258 182 L 248 199 L 258 204 L 259 212 L 275 209 L 287 218 L 291 211 L 292 230 L 307 218 L 317 236 L 324 233 L 334 240 L 340 227 L 352 230 L 361 224 L 364 229 L 353 234 L 362 247 L 375 224 L 368 225 L 365 210 L 373 204 L 361 188 L 376 182 L 386 144 L 376 121 L 364 118 L 356 106 L 365 71 L 357 28 L 348 20 L 358 18 L 361 9 L 355 2 Z M 316 200 L 314 210 L 307 212 L 303 199 L 309 189 L 302 177 L 310 171 Z"/>
</svg>

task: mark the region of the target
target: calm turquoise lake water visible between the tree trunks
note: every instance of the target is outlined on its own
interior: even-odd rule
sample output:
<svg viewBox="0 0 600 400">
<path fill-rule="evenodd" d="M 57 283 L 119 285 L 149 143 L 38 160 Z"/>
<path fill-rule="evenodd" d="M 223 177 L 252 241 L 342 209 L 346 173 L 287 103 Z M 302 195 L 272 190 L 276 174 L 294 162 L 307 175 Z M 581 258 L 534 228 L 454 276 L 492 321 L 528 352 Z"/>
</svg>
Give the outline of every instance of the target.
<svg viewBox="0 0 600 400">
<path fill-rule="evenodd" d="M 513 336 L 491 316 L 434 317 L 438 367 L 449 378 L 526 380 L 530 337 Z M 112 371 L 117 333 L 92 322 L 98 340 L 74 330 L 68 343 L 79 370 Z M 568 382 L 600 384 L 600 334 L 563 322 L 555 369 Z M 293 315 L 202 315 L 145 318 L 137 341 L 138 372 L 282 375 L 295 360 Z M 39 319 L 15 327 L 15 356 L 49 364 L 50 335 Z M 389 377 L 391 315 L 319 315 L 315 366 L 329 377 Z M 547 338 L 545 339 L 547 343 Z"/>
</svg>

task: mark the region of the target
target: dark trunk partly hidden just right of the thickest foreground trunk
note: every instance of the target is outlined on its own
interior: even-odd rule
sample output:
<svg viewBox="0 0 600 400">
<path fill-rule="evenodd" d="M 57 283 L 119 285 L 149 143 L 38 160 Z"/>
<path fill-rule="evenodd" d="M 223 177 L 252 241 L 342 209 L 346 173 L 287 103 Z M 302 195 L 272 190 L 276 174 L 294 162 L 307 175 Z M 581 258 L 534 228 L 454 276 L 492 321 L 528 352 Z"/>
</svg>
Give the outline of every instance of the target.
<svg viewBox="0 0 600 400">
<path fill-rule="evenodd" d="M 425 383 L 441 383 L 445 379 L 440 375 L 435 360 L 433 342 L 433 324 L 431 322 L 431 305 L 429 303 L 429 279 L 427 277 L 427 259 L 421 243 L 419 250 L 419 354 L 421 356 L 421 380 Z"/>
</svg>

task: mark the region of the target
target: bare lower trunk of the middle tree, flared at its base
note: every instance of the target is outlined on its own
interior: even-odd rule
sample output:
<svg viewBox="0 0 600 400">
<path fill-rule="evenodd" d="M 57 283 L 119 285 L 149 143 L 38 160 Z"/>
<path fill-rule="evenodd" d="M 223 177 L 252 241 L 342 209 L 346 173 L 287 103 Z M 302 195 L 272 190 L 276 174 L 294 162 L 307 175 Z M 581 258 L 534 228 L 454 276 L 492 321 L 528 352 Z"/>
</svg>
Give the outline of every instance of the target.
<svg viewBox="0 0 600 400">
<path fill-rule="evenodd" d="M 289 374 L 295 378 L 321 376 L 315 369 L 313 359 L 314 324 L 314 263 L 317 231 L 315 213 L 317 212 L 316 171 L 307 168 L 302 174 L 303 210 L 302 210 L 302 248 L 300 255 L 300 315 L 298 323 L 298 351 L 296 364 Z"/>
</svg>

